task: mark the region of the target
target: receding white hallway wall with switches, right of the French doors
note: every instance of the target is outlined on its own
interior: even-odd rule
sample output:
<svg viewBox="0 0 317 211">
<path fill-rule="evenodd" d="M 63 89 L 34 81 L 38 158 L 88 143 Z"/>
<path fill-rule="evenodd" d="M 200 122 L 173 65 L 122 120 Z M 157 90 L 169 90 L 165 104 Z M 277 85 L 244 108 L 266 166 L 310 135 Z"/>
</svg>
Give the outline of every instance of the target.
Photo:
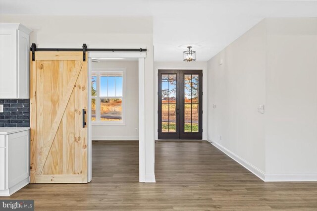
<svg viewBox="0 0 317 211">
<path fill-rule="evenodd" d="M 257 107 L 265 104 L 265 44 L 262 21 L 208 62 L 209 140 L 260 172 L 264 115 Z"/>
</svg>

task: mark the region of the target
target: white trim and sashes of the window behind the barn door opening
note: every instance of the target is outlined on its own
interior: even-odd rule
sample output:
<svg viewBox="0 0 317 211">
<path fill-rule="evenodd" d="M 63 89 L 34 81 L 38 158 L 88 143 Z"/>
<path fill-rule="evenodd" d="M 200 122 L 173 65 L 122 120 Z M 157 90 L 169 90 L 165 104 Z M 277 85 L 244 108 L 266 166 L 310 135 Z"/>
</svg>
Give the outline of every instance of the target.
<svg viewBox="0 0 317 211">
<path fill-rule="evenodd" d="M 107 72 L 122 72 L 123 80 L 122 80 L 122 120 L 121 121 L 98 121 L 100 115 L 100 102 L 98 101 L 99 98 L 103 98 L 100 96 L 100 76 Z M 120 126 L 126 125 L 126 96 L 125 96 L 125 88 L 126 88 L 126 70 L 125 68 L 93 68 L 92 69 L 92 76 L 97 75 L 97 96 L 91 96 L 91 99 L 96 99 L 96 121 L 91 121 L 92 125 L 112 125 L 112 126 Z M 99 96 L 99 97 L 98 97 Z M 118 98 L 118 97 L 106 97 L 106 98 Z M 98 117 L 97 117 L 98 113 Z"/>
</svg>

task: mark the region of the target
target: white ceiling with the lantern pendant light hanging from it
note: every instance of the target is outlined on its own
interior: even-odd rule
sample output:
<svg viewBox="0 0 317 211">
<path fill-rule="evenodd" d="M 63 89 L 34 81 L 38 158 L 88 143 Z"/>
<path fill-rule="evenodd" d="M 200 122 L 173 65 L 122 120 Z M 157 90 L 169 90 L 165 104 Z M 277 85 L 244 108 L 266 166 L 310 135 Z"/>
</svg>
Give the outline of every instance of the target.
<svg viewBox="0 0 317 211">
<path fill-rule="evenodd" d="M 0 0 L 1 14 L 153 16 L 156 61 L 207 61 L 265 17 L 317 17 L 317 0 Z"/>
</svg>

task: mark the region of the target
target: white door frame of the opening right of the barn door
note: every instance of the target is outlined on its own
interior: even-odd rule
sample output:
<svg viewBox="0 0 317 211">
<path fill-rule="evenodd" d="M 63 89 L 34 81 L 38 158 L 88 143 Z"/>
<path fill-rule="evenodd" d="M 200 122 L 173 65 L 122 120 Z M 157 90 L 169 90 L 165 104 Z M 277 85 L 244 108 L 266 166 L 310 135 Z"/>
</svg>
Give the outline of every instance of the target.
<svg viewBox="0 0 317 211">
<path fill-rule="evenodd" d="M 155 178 L 147 179 L 145 175 L 145 58 L 146 52 L 88 52 L 88 102 L 91 102 L 91 71 L 92 57 L 123 57 L 123 58 L 138 58 L 139 61 L 139 182 L 155 182 Z M 88 103 L 88 182 L 92 180 L 92 122 L 91 122 L 91 103 Z"/>
</svg>

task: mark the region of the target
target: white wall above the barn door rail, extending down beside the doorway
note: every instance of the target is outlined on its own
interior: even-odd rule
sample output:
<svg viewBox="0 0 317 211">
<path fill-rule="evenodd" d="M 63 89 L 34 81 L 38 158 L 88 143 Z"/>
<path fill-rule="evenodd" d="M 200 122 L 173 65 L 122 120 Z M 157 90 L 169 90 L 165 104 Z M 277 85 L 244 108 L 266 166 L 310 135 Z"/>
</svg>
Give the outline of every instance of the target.
<svg viewBox="0 0 317 211">
<path fill-rule="evenodd" d="M 154 180 L 153 20 L 148 16 L 0 15 L 22 23 L 38 48 L 147 48 L 145 58 L 145 174 Z"/>
</svg>

